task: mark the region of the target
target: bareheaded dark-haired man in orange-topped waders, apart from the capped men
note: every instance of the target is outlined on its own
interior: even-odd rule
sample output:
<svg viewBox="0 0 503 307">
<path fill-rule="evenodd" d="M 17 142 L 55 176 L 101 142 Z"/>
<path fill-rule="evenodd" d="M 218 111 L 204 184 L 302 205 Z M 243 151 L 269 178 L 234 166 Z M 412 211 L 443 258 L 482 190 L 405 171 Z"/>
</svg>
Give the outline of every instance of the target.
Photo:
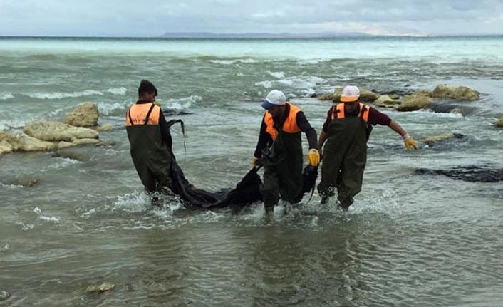
<svg viewBox="0 0 503 307">
<path fill-rule="evenodd" d="M 138 101 L 126 113 L 131 157 L 148 192 L 166 191 L 171 185 L 172 138 L 156 96 L 157 88 L 142 80 Z"/>
</svg>

